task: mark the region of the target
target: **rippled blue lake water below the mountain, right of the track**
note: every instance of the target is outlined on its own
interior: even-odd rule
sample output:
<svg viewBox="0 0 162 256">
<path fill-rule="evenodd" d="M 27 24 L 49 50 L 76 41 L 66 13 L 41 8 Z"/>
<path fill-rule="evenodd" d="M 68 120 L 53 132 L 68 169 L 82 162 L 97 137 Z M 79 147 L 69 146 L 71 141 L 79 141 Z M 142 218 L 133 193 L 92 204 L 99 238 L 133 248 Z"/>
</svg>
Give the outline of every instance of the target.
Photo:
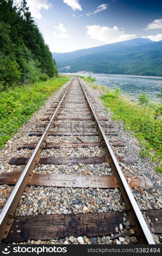
<svg viewBox="0 0 162 256">
<path fill-rule="evenodd" d="M 65 73 L 67 74 L 67 73 Z M 131 99 L 137 99 L 138 95 L 147 93 L 151 101 L 160 101 L 157 97 L 162 86 L 162 77 L 128 76 L 128 75 L 104 75 L 104 74 L 73 74 L 96 78 L 96 82 L 107 88 L 121 88 L 123 94 Z"/>
</svg>

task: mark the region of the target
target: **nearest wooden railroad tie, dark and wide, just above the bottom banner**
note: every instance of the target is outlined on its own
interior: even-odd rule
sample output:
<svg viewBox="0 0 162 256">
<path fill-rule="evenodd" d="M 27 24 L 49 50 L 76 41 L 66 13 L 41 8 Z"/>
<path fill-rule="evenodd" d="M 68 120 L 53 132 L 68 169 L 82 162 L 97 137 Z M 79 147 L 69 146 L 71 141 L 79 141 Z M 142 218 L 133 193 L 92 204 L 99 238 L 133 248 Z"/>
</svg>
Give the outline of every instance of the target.
<svg viewBox="0 0 162 256">
<path fill-rule="evenodd" d="M 123 222 L 124 211 L 105 212 L 94 214 L 55 214 L 55 215 L 35 215 L 16 217 L 4 243 L 27 242 L 30 240 L 49 240 L 64 237 L 87 236 L 101 237 L 108 236 L 115 232 L 115 227 L 120 228 Z M 145 210 L 144 218 L 149 216 L 151 225 L 154 226 L 154 233 L 162 233 L 162 210 Z M 155 218 L 158 216 L 158 221 Z M 126 217 L 126 221 L 128 218 Z M 150 224 L 147 222 L 148 227 Z M 17 232 L 17 230 L 19 230 Z M 119 234 L 118 234 L 119 235 Z M 117 235 L 117 236 L 118 236 Z M 127 236 L 127 232 L 122 232 L 120 237 Z M 134 234 L 130 234 L 134 236 Z M 114 237 L 115 238 L 115 237 Z M 113 239 L 113 238 L 111 238 Z"/>
</svg>

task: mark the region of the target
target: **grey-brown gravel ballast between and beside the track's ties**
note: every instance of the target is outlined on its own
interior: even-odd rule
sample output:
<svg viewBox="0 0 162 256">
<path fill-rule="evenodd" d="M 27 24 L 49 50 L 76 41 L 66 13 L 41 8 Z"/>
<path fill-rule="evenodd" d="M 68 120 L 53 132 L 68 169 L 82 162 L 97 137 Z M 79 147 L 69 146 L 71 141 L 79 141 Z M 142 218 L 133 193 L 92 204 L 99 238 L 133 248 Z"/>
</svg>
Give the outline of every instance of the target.
<svg viewBox="0 0 162 256">
<path fill-rule="evenodd" d="M 61 89 L 56 92 L 44 106 L 34 115 L 31 119 L 25 123 L 7 143 L 5 148 L 0 152 L 0 167 L 1 173 L 3 172 L 21 172 L 24 166 L 9 165 L 9 161 L 13 157 L 30 157 L 33 150 L 17 150 L 17 147 L 25 143 L 37 143 L 40 137 L 28 136 L 31 131 L 43 131 L 45 128 L 36 127 L 38 124 L 47 124 L 47 121 L 40 121 L 40 118 L 50 117 L 53 112 L 47 114 L 47 110 L 62 93 L 62 91 L 68 86 L 70 82 L 64 84 Z M 120 163 L 121 169 L 124 175 L 132 175 L 138 177 L 148 177 L 153 183 L 153 189 L 131 189 L 133 196 L 135 197 L 140 209 L 161 209 L 162 208 L 162 194 L 161 194 L 161 179 L 155 172 L 157 163 L 153 162 L 151 158 L 142 159 L 139 155 L 141 151 L 140 142 L 131 135 L 128 131 L 124 130 L 122 123 L 112 120 L 112 112 L 109 110 L 107 113 L 102 101 L 99 99 L 100 91 L 92 89 L 89 84 L 82 80 L 82 83 L 91 95 L 90 102 L 98 118 L 107 118 L 108 121 L 101 121 L 102 126 L 105 127 L 106 132 L 117 132 L 118 136 L 107 136 L 108 140 L 122 140 L 125 143 L 124 147 L 112 147 L 115 155 L 119 156 L 131 156 L 137 160 L 134 164 Z M 74 89 L 73 89 L 74 90 Z M 84 101 L 84 98 L 75 96 L 68 97 L 68 100 Z M 86 109 L 86 104 L 82 105 L 82 108 Z M 76 104 L 64 103 L 64 107 L 76 108 Z M 61 110 L 58 118 L 89 118 L 88 109 L 74 114 L 68 114 Z M 87 113 L 86 113 L 87 112 Z M 73 112 L 72 112 L 73 113 Z M 59 123 L 67 123 L 66 121 L 57 121 Z M 95 132 L 95 129 L 84 127 L 84 124 L 92 124 L 92 121 L 71 121 L 75 124 L 73 131 L 75 132 Z M 106 124 L 112 124 L 112 127 L 107 128 Z M 80 125 L 83 124 L 82 127 Z M 78 125 L 78 126 L 77 126 Z M 67 127 L 53 127 L 51 131 L 60 132 L 72 132 Z M 79 136 L 84 142 L 99 141 L 98 136 Z M 76 136 L 49 136 L 47 142 L 80 142 Z M 103 147 L 78 147 L 78 148 L 52 148 L 50 150 L 43 150 L 41 157 L 98 157 L 104 156 L 105 150 Z M 71 165 L 36 165 L 33 173 L 46 173 L 46 174 L 66 174 L 66 175 L 112 175 L 112 170 L 109 163 L 102 164 L 71 164 Z M 2 185 L 0 207 L 2 209 L 8 196 L 11 193 L 12 186 Z M 120 190 L 115 189 L 99 189 L 99 188 L 58 188 L 58 187 L 26 187 L 24 194 L 22 195 L 19 204 L 16 209 L 16 216 L 32 216 L 32 215 L 50 215 L 50 214 L 78 214 L 78 213 L 94 213 L 94 212 L 108 212 L 108 211 L 123 211 L 125 204 L 121 196 Z M 123 220 L 124 223 L 124 220 Z M 125 224 L 123 229 L 125 228 Z M 122 229 L 122 230 L 123 230 Z M 122 230 L 114 230 L 114 233 L 109 237 L 66 237 L 58 240 L 48 241 L 34 241 L 29 240 L 28 244 L 128 244 L 137 243 L 135 237 L 119 237 L 113 239 L 113 236 L 122 232 Z M 133 232 L 133 231 L 132 231 Z M 133 233 L 132 233 L 133 234 Z M 160 235 L 153 235 L 156 243 L 161 243 L 162 237 Z M 23 243 L 22 243 L 23 244 Z"/>
</svg>

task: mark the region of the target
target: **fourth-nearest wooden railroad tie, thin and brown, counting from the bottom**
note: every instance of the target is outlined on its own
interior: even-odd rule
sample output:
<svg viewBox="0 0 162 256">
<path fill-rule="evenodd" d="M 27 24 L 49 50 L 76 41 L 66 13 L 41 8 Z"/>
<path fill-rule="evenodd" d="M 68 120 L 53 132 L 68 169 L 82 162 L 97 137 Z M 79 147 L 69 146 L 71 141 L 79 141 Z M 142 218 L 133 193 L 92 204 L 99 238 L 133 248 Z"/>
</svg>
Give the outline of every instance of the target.
<svg viewBox="0 0 162 256">
<path fill-rule="evenodd" d="M 124 146 L 125 144 L 123 143 L 123 141 L 121 140 L 117 140 L 117 141 L 109 141 L 109 143 L 112 144 L 112 146 Z M 25 148 L 29 148 L 30 150 L 33 150 L 36 147 L 37 144 L 35 143 L 27 143 L 24 144 L 22 146 L 19 146 L 17 149 L 21 150 L 21 149 L 25 149 Z M 72 142 L 72 143 L 46 143 L 44 146 L 44 150 L 48 149 L 48 148 L 60 148 L 60 147 L 96 147 L 99 146 L 101 147 L 102 144 L 100 141 L 95 141 L 95 142 Z"/>
</svg>

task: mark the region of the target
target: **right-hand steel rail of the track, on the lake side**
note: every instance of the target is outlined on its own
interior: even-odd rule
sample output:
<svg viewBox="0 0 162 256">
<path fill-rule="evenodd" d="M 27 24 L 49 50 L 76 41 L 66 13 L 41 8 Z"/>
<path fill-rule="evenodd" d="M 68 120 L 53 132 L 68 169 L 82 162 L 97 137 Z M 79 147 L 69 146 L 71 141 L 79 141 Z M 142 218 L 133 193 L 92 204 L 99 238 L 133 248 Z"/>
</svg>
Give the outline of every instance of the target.
<svg viewBox="0 0 162 256">
<path fill-rule="evenodd" d="M 104 144 L 106 154 L 107 154 L 107 157 L 109 158 L 114 176 L 117 179 L 117 184 L 119 184 L 119 188 L 120 188 L 121 194 L 123 196 L 124 202 L 126 204 L 127 210 L 129 212 L 129 216 L 130 216 L 131 221 L 136 230 L 136 234 L 138 235 L 137 239 L 141 244 L 155 244 L 155 241 L 154 241 L 152 234 L 147 226 L 147 223 L 142 215 L 142 212 L 133 197 L 130 187 L 123 175 L 123 172 L 122 172 L 120 166 L 119 166 L 117 158 L 115 157 L 115 155 L 111 149 L 111 146 L 107 140 L 107 137 L 100 125 L 100 122 L 99 122 L 94 110 L 92 109 L 92 106 L 87 98 L 86 92 L 85 92 L 79 78 L 78 78 L 78 81 L 79 81 L 82 91 L 85 95 L 85 98 L 89 105 L 89 108 L 95 118 L 95 121 L 97 124 L 97 130 L 100 134 L 101 141 Z"/>
</svg>

